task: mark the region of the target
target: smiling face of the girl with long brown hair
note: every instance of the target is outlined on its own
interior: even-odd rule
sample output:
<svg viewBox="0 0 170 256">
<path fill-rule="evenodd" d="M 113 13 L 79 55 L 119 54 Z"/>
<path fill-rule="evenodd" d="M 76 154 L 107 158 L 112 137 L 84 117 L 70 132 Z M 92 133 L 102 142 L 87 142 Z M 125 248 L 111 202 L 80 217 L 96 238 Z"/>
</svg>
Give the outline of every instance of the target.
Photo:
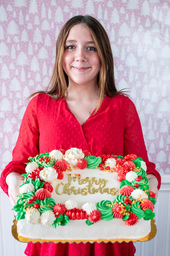
<svg viewBox="0 0 170 256">
<path fill-rule="evenodd" d="M 69 85 L 96 86 L 100 59 L 90 29 L 73 26 L 64 44 L 62 66 L 69 78 Z"/>
</svg>

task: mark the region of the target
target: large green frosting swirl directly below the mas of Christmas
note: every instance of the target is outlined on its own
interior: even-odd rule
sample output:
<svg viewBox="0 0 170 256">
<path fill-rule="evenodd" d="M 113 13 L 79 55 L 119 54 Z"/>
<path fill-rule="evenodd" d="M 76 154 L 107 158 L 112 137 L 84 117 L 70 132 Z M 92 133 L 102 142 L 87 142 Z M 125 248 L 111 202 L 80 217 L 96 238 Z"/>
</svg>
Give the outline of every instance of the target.
<svg viewBox="0 0 170 256">
<path fill-rule="evenodd" d="M 114 214 L 112 213 L 112 202 L 109 200 L 101 201 L 100 203 L 96 203 L 97 210 L 101 213 L 102 220 L 112 220 L 114 218 Z"/>
</svg>

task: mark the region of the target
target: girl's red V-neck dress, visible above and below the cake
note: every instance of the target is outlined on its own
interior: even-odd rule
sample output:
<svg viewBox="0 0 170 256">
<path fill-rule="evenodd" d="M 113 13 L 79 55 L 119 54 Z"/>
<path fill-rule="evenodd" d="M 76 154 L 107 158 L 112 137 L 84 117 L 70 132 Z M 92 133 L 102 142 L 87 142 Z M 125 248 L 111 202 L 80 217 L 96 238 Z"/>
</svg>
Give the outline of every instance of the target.
<svg viewBox="0 0 170 256">
<path fill-rule="evenodd" d="M 23 116 L 19 138 L 13 149 L 13 159 L 1 175 L 2 189 L 7 194 L 6 175 L 10 172 L 24 173 L 29 156 L 71 147 L 87 149 L 92 155 L 136 154 L 146 162 L 147 173 L 156 175 L 160 187 L 160 175 L 155 170 L 155 164 L 148 160 L 140 120 L 129 98 L 124 95 L 105 97 L 98 112 L 81 126 L 64 98 L 53 100 L 46 94 L 38 94 L 29 102 Z M 29 243 L 25 251 L 29 256 L 132 256 L 134 252 L 132 242 Z"/>
</svg>

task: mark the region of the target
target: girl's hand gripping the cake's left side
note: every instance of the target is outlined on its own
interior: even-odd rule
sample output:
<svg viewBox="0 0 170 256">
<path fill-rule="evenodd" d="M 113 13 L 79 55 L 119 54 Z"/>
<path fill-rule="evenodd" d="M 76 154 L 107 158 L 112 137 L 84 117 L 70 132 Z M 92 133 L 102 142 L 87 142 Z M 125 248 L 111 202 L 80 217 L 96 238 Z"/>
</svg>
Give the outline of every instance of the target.
<svg viewBox="0 0 170 256">
<path fill-rule="evenodd" d="M 18 195 L 20 194 L 20 186 L 23 181 L 23 177 L 17 172 L 11 172 L 6 177 L 6 183 L 9 186 L 9 198 L 12 206 L 14 206 L 18 200 Z"/>
</svg>

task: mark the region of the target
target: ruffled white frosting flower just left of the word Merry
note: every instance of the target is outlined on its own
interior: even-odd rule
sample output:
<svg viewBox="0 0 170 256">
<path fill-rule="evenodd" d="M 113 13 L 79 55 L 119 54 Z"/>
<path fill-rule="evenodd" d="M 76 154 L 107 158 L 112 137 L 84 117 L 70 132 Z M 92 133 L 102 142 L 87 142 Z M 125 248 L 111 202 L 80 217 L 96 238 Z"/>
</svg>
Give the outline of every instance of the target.
<svg viewBox="0 0 170 256">
<path fill-rule="evenodd" d="M 52 167 L 46 167 L 39 172 L 39 177 L 45 182 L 52 182 L 57 179 L 58 173 Z"/>
</svg>

